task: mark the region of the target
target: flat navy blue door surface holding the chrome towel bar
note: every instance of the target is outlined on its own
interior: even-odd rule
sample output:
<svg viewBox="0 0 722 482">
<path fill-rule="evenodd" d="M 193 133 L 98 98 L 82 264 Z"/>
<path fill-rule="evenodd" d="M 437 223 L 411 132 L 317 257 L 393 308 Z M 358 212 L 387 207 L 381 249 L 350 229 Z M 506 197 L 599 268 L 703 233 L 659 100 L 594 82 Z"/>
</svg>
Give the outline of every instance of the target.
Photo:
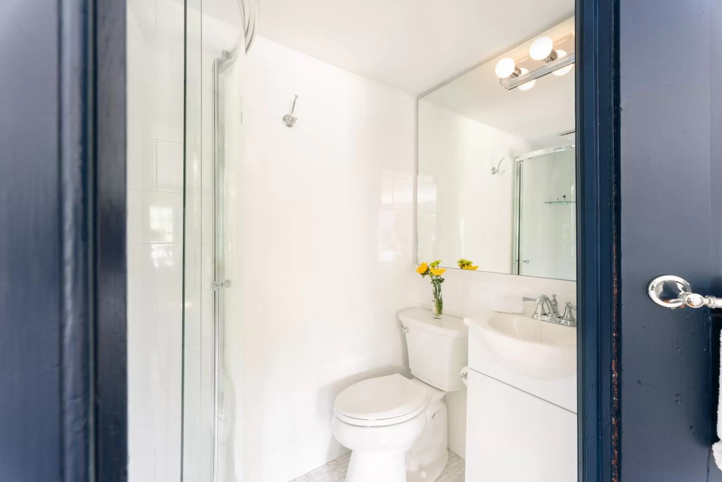
<svg viewBox="0 0 722 482">
<path fill-rule="evenodd" d="M 619 1 L 619 480 L 722 480 L 719 324 L 645 293 L 722 295 L 722 3 Z"/>
</svg>

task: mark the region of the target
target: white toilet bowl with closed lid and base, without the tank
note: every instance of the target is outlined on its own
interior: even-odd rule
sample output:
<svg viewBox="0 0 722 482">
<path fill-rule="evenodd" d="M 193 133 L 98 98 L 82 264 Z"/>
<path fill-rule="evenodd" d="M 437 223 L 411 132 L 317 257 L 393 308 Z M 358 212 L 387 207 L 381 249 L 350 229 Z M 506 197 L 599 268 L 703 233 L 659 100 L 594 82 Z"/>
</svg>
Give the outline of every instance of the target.
<svg viewBox="0 0 722 482">
<path fill-rule="evenodd" d="M 434 481 L 448 460 L 443 395 L 393 374 L 354 384 L 336 397 L 331 429 L 352 449 L 346 482 Z"/>
</svg>

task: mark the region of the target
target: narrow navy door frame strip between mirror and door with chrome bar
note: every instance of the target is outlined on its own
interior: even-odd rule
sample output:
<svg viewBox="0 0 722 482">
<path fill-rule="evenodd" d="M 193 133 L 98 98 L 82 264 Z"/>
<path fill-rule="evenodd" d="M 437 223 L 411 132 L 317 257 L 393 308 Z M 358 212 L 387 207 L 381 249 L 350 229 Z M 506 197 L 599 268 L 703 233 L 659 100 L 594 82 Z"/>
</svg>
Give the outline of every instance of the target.
<svg viewBox="0 0 722 482">
<path fill-rule="evenodd" d="M 576 0 L 579 482 L 619 481 L 619 3 Z"/>
</svg>

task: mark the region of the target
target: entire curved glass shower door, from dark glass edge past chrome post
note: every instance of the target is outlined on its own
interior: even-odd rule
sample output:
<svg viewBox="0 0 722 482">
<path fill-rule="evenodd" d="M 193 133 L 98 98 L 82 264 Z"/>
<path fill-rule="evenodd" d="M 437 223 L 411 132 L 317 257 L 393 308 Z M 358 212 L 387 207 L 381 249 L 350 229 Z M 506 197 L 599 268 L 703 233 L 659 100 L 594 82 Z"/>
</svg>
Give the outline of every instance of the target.
<svg viewBox="0 0 722 482">
<path fill-rule="evenodd" d="M 234 186 L 243 170 L 241 73 L 257 9 L 248 0 L 187 0 L 185 8 L 182 480 L 240 482 L 241 353 L 225 347 L 240 337 L 234 240 L 243 206 Z"/>
</svg>

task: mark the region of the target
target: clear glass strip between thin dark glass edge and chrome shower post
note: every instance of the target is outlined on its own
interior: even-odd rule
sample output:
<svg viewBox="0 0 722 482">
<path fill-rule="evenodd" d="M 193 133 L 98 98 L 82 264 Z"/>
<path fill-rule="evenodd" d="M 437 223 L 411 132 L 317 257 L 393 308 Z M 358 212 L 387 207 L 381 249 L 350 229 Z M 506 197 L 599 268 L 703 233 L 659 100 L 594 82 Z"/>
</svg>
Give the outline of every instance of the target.
<svg viewBox="0 0 722 482">
<path fill-rule="evenodd" d="M 212 480 L 213 391 L 213 236 L 206 232 L 212 212 L 212 159 L 204 136 L 204 75 L 202 0 L 179 3 L 185 22 L 183 82 L 183 194 L 185 212 L 183 252 L 183 426 L 181 481 Z M 180 13 L 179 12 L 179 13 Z M 175 481 L 172 481 L 175 482 Z"/>
</svg>

